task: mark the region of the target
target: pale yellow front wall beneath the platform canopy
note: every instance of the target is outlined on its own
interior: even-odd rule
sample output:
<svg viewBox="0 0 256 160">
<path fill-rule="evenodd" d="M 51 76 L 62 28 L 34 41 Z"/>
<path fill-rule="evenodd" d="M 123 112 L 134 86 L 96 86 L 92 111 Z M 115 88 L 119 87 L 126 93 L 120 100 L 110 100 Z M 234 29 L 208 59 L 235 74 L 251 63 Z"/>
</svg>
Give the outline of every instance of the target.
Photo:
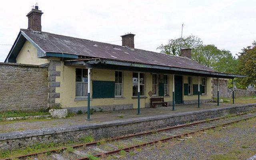
<svg viewBox="0 0 256 160">
<path fill-rule="evenodd" d="M 56 103 L 60 103 L 62 107 L 82 107 L 87 106 L 87 100 L 76 101 L 76 67 L 61 66 L 56 67 L 57 71 L 61 72 L 60 77 L 56 77 L 56 82 L 60 82 L 60 88 L 56 88 L 56 92 L 60 93 L 60 98 L 56 98 Z M 166 102 L 172 101 L 172 74 L 168 75 L 169 78 L 169 94 L 164 99 Z M 184 83 L 187 83 L 187 76 L 184 76 Z M 211 79 L 207 78 L 207 94 L 201 96 L 201 99 L 212 98 Z M 92 69 L 92 80 L 114 81 L 115 70 L 102 70 Z M 184 84 L 183 83 L 183 84 Z M 145 96 L 147 98 L 140 99 L 141 108 L 145 107 L 146 103 L 150 103 L 150 96 L 148 92 L 152 91 L 152 74 L 145 73 Z M 193 77 L 193 84 L 197 84 L 197 77 Z M 92 85 L 92 82 L 91 82 Z M 92 87 L 91 87 L 92 96 Z M 132 98 L 132 71 L 123 71 L 123 92 L 122 98 L 97 98 L 91 99 L 91 106 L 108 106 L 113 104 L 133 104 L 134 108 L 138 107 L 138 99 Z M 143 96 L 142 96 L 143 97 Z M 198 96 L 183 96 L 183 100 L 197 100 Z"/>
</svg>

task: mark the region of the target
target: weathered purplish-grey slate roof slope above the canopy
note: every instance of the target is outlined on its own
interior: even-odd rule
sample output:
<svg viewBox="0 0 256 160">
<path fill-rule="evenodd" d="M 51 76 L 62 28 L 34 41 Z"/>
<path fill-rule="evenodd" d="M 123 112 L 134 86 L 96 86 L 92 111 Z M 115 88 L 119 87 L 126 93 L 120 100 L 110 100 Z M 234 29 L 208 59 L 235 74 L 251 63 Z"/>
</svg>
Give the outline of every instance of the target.
<svg viewBox="0 0 256 160">
<path fill-rule="evenodd" d="M 21 31 L 29 36 L 45 52 L 216 72 L 186 57 L 170 56 L 158 52 L 133 49 L 48 32 L 38 33 L 26 29 L 21 29 Z"/>
</svg>

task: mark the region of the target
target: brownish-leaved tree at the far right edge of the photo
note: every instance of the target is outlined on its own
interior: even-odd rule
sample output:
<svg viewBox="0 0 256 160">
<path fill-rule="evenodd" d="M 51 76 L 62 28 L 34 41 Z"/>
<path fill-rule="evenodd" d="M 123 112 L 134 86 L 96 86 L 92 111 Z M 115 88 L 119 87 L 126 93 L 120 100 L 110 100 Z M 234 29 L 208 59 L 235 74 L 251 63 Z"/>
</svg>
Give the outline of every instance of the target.
<svg viewBox="0 0 256 160">
<path fill-rule="evenodd" d="M 237 73 L 248 75 L 246 78 L 237 79 L 242 88 L 256 85 L 256 41 L 239 53 Z"/>
</svg>

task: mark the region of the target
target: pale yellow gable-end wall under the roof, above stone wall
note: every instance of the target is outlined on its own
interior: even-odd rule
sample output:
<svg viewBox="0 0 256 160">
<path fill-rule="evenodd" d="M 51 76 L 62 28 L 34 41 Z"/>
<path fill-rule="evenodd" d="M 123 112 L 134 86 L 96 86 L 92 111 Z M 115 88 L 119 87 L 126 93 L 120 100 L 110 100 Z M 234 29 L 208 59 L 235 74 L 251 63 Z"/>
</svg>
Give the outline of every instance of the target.
<svg viewBox="0 0 256 160">
<path fill-rule="evenodd" d="M 37 58 L 37 49 L 26 40 L 16 57 L 16 63 L 40 65 L 49 61 L 45 58 Z"/>
</svg>

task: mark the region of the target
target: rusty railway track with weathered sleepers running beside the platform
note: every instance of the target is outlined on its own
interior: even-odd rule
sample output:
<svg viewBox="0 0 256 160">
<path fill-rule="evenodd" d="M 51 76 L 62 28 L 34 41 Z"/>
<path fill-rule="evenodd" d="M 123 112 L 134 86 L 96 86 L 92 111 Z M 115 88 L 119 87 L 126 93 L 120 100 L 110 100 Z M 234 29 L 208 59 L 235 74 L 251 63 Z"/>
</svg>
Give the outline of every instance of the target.
<svg viewBox="0 0 256 160">
<path fill-rule="evenodd" d="M 34 154 L 27 154 L 18 157 L 11 157 L 2 160 L 16 159 L 33 159 L 40 160 L 40 155 L 48 154 L 48 159 L 55 160 L 89 160 L 93 157 L 102 157 L 111 154 L 118 154 L 121 150 L 128 152 L 143 146 L 153 145 L 158 142 L 165 142 L 174 138 L 189 138 L 191 134 L 196 132 L 203 132 L 208 129 L 226 126 L 242 120 L 247 120 L 256 117 L 256 112 L 248 112 L 237 114 L 229 117 L 214 118 L 200 122 L 193 122 L 190 124 L 183 124 L 167 128 L 161 128 L 149 132 L 142 132 L 137 134 L 130 134 L 125 136 L 114 137 L 106 140 L 90 142 L 87 144 L 78 144 L 69 148 L 58 148 L 57 150 L 48 150 Z M 187 136 L 187 137 L 186 137 Z M 183 139 L 182 139 L 183 140 Z M 71 149 L 70 149 L 71 148 Z"/>
</svg>

